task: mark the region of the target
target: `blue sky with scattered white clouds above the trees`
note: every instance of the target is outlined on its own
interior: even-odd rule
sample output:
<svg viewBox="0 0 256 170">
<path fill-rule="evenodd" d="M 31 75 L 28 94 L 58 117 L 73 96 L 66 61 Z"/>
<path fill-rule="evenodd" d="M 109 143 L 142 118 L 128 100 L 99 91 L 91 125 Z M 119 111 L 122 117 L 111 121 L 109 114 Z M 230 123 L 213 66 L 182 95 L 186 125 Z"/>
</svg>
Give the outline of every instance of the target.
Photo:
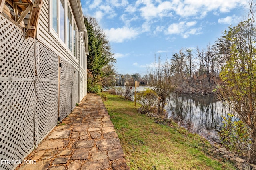
<svg viewBox="0 0 256 170">
<path fill-rule="evenodd" d="M 106 33 L 120 74 L 147 74 L 155 54 L 213 45 L 247 15 L 248 0 L 81 0 Z"/>
</svg>

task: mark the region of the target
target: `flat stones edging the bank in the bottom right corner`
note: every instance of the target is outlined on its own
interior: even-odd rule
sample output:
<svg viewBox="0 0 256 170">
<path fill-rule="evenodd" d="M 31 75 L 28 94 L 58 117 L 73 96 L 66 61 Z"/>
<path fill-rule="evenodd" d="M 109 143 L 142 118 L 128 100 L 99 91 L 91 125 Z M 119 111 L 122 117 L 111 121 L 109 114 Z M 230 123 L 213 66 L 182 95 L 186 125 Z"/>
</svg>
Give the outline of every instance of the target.
<svg viewBox="0 0 256 170">
<path fill-rule="evenodd" d="M 219 148 L 216 149 L 216 151 L 220 152 L 223 158 L 235 161 L 239 170 L 256 170 L 256 165 L 245 163 L 246 160 L 239 158 L 238 155 L 232 151 L 226 150 L 226 148 Z"/>
</svg>

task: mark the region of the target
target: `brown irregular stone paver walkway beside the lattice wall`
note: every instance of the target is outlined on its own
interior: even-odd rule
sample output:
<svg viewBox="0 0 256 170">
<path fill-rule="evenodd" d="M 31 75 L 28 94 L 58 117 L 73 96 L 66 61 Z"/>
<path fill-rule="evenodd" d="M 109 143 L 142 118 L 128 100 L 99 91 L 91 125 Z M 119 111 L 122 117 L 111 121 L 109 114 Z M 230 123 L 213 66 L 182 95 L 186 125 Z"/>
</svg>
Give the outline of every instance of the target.
<svg viewBox="0 0 256 170">
<path fill-rule="evenodd" d="M 88 94 L 24 160 L 19 170 L 129 170 L 100 96 Z"/>
</svg>

